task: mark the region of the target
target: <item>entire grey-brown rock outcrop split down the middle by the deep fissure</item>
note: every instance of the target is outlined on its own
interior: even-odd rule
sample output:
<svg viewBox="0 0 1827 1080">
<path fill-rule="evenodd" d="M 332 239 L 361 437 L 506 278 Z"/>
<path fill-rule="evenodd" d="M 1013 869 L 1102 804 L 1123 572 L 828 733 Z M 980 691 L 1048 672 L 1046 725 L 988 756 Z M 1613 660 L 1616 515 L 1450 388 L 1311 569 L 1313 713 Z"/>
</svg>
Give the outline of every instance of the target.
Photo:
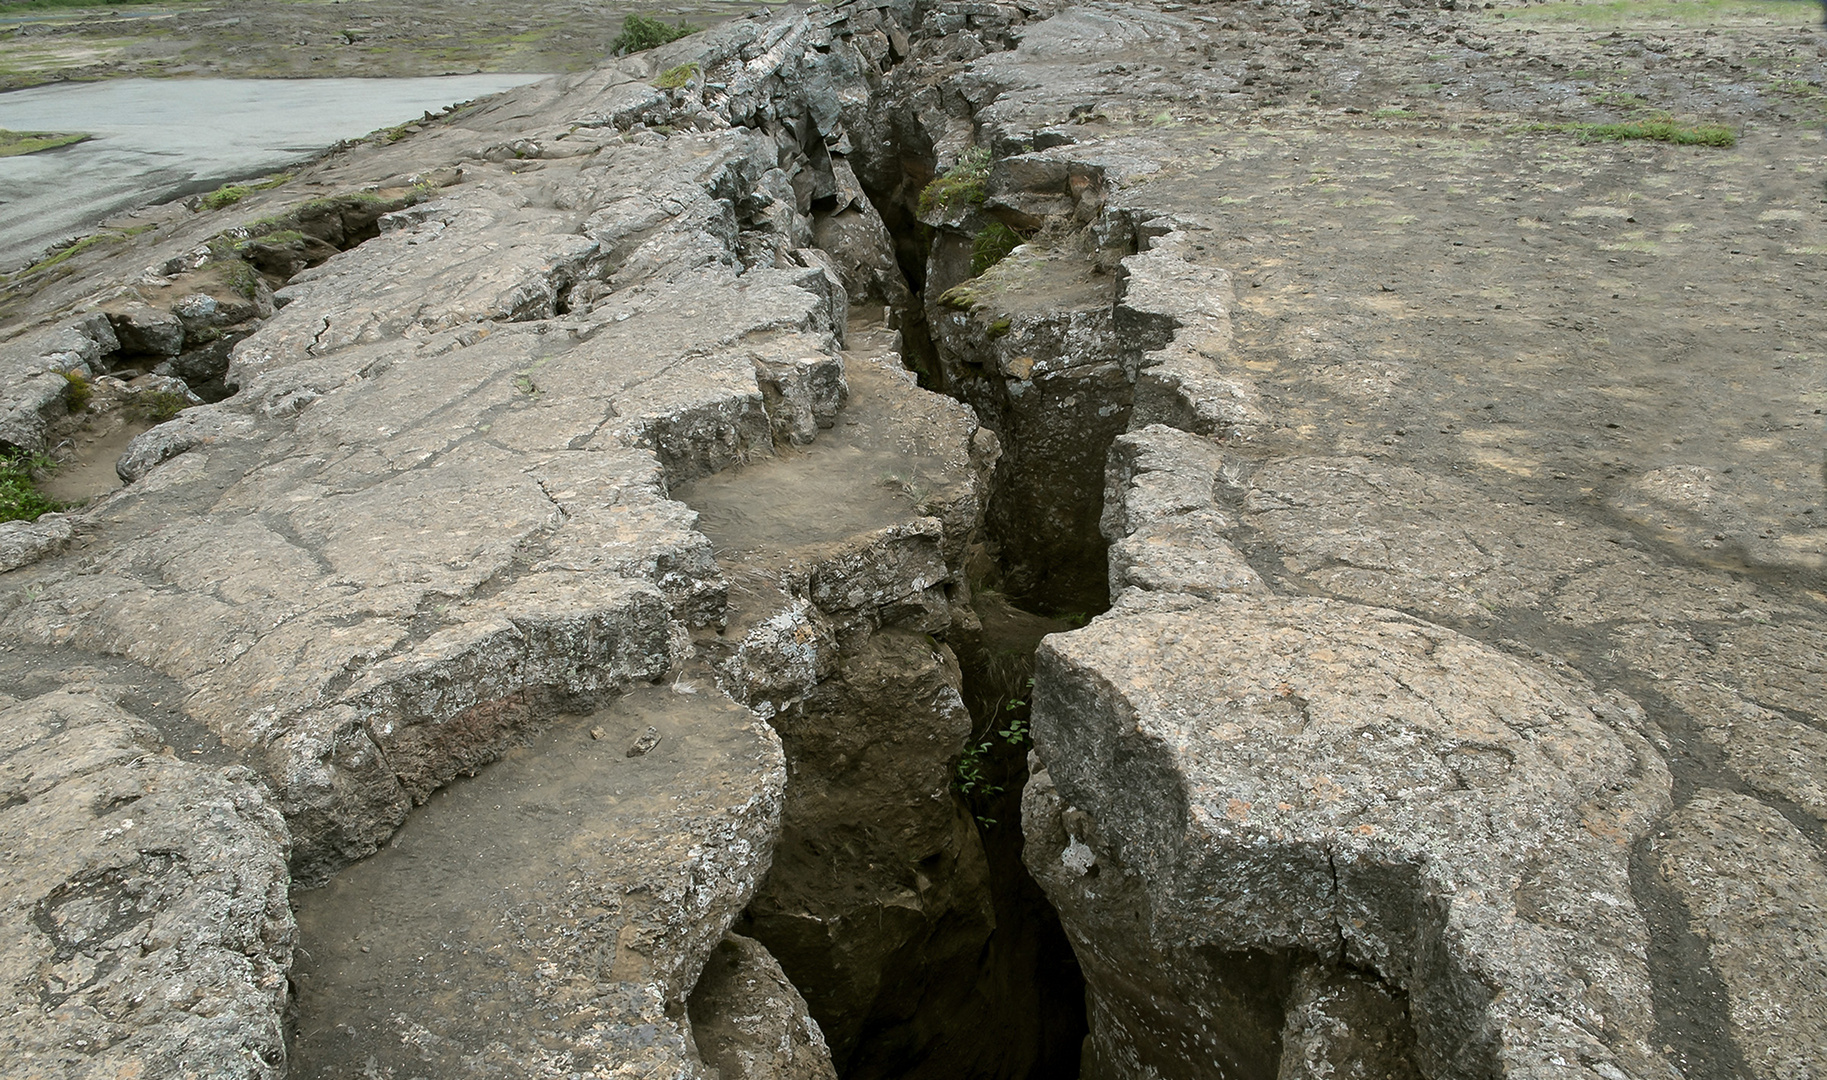
<svg viewBox="0 0 1827 1080">
<path fill-rule="evenodd" d="M 1540 150 L 1562 46 L 1454 13 L 745 18 L 48 287 L 9 450 L 110 371 L 212 404 L 0 535 L 38 694 L 0 824 L 69 839 L 9 848 L 9 1054 L 274 1076 L 290 970 L 301 1073 L 1025 1075 L 1012 837 L 956 791 L 990 587 L 1089 619 L 988 705 L 1032 707 L 1087 1080 L 1820 1071 L 1820 462 L 1763 400 L 1805 349 L 1683 323 L 1736 302 L 1653 249 L 1712 227 L 1637 221 L 1648 164 L 1759 185 Z M 1484 185 L 1485 119 L 1383 108 L 1379 49 L 1547 126 L 1478 128 Z M 1507 278 L 1409 228 L 1473 188 L 1467 236 L 1538 203 L 1527 258 L 1480 245 Z M 1814 258 L 1798 210 L 1719 214 Z M 1622 280 L 1611 338 L 1537 349 L 1595 294 L 1524 280 L 1544 230 L 1708 369 Z M 1633 431 L 1694 395 L 1769 424 Z"/>
</svg>

